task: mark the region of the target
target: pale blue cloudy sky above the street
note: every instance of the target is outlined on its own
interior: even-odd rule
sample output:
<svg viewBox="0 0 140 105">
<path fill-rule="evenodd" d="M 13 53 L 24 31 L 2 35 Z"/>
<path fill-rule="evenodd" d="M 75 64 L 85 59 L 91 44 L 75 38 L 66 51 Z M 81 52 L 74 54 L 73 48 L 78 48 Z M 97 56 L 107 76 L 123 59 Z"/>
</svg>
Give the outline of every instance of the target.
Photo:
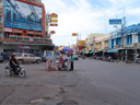
<svg viewBox="0 0 140 105">
<path fill-rule="evenodd" d="M 126 16 L 127 26 L 140 23 L 139 0 L 42 0 L 47 13 L 58 14 L 58 26 L 51 36 L 57 46 L 75 44 L 78 33 L 85 39 L 92 33 L 107 34 L 116 31 L 109 19 Z M 119 27 L 119 26 L 118 26 Z"/>
</svg>

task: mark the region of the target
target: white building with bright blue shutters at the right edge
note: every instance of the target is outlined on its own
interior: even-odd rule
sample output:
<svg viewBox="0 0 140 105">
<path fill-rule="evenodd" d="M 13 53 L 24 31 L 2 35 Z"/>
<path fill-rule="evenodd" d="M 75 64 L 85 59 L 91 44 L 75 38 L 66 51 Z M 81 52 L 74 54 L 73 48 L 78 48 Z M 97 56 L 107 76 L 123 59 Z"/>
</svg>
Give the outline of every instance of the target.
<svg viewBox="0 0 140 105">
<path fill-rule="evenodd" d="M 117 32 L 110 33 L 108 47 L 112 52 L 117 49 L 121 60 L 136 60 L 140 54 L 140 24 L 133 24 Z"/>
</svg>

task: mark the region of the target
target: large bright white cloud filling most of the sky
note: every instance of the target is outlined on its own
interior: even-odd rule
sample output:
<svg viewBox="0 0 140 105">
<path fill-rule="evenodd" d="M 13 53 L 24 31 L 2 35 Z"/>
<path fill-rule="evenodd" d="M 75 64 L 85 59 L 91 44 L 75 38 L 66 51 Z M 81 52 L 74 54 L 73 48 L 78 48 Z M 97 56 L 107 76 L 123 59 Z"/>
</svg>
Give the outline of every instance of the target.
<svg viewBox="0 0 140 105">
<path fill-rule="evenodd" d="M 108 25 L 108 20 L 116 18 L 116 14 L 118 18 L 122 18 L 124 9 L 127 9 L 126 5 L 129 5 L 128 3 L 131 3 L 132 0 L 129 2 L 127 0 L 108 1 L 112 2 L 113 7 L 100 11 L 86 0 L 71 0 L 71 4 L 68 4 L 67 0 L 43 0 L 46 11 L 58 13 L 58 27 L 51 27 L 56 31 L 52 36 L 54 43 L 56 45 L 73 44 L 77 38 L 72 37 L 71 34 L 77 32 L 81 33 L 82 39 L 85 39 L 86 35 L 91 33 L 104 33 L 105 28 L 108 32 L 115 30 Z M 121 7 L 124 8 L 118 10 Z M 137 15 L 140 11 L 140 9 L 128 10 L 129 12 L 126 14 L 130 15 Z"/>
</svg>

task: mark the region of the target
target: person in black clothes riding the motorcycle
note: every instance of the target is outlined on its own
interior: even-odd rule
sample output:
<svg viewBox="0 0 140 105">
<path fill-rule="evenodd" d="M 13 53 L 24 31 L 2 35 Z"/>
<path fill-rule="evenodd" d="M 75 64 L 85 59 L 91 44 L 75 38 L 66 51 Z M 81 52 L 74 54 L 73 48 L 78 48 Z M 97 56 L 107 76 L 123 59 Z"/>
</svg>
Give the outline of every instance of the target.
<svg viewBox="0 0 140 105">
<path fill-rule="evenodd" d="M 15 59 L 15 55 L 12 55 L 10 59 L 10 67 L 12 68 L 12 71 L 14 72 L 14 74 L 18 74 L 18 70 L 16 70 L 18 66 L 19 66 L 19 62 Z"/>
</svg>

